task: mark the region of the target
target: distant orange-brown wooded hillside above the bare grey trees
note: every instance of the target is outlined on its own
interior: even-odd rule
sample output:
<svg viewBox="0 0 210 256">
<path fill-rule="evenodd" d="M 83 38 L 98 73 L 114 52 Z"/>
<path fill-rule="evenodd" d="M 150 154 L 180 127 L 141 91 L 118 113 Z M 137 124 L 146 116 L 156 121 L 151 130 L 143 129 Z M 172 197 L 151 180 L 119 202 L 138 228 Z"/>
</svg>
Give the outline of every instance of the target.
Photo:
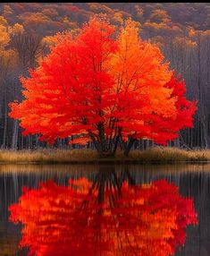
<svg viewBox="0 0 210 256">
<path fill-rule="evenodd" d="M 0 15 L 10 25 L 20 23 L 39 34 L 79 28 L 93 13 L 106 13 L 114 24 L 131 17 L 143 30 L 183 34 L 186 28 L 209 30 L 210 4 L 207 3 L 1 3 Z"/>
</svg>

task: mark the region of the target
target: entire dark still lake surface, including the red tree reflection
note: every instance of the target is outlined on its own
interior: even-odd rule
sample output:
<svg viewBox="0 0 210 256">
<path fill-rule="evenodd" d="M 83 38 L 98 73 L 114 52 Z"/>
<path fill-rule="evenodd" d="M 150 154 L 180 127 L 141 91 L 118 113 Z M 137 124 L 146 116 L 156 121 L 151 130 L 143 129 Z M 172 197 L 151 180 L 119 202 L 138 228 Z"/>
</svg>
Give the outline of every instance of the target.
<svg viewBox="0 0 210 256">
<path fill-rule="evenodd" d="M 71 185 L 69 179 L 73 181 Z M 49 180 L 54 183 L 47 183 Z M 74 183 L 78 180 L 80 184 Z M 154 183 L 155 181 L 162 183 Z M 9 221 L 11 205 L 15 203 L 18 205 L 21 195 L 28 194 L 28 198 L 24 201 L 25 205 L 22 202 L 22 205 L 19 204 L 21 207 L 15 210 L 18 215 L 16 218 L 21 219 L 27 226 L 26 243 L 32 244 L 35 250 L 40 249 L 41 246 L 45 249 L 43 251 L 38 249 L 39 251 L 34 255 L 169 255 L 168 241 L 162 237 L 161 230 L 171 232 L 172 219 L 175 219 L 174 216 L 179 217 L 177 208 L 180 208 L 179 214 L 182 218 L 188 214 L 187 203 L 191 200 L 197 213 L 198 223 L 186 224 L 186 227 L 182 228 L 186 232 L 186 240 L 181 246 L 177 241 L 173 241 L 175 243 L 173 255 L 210 256 L 209 181 L 210 165 L 2 165 L 0 166 L 0 255 L 29 253 L 29 247 L 22 249 L 19 247 L 23 228 L 21 222 L 14 224 Z M 44 188 L 40 189 L 39 182 L 43 182 Z M 154 187 L 151 187 L 151 184 L 154 184 Z M 24 186 L 29 188 L 28 192 L 22 192 Z M 67 186 L 71 187 L 71 190 Z M 176 187 L 178 192 L 174 195 L 171 190 Z M 31 189 L 38 190 L 34 192 Z M 75 201 L 72 202 L 74 199 Z M 142 202 L 144 200 L 148 201 L 147 207 Z M 182 204 L 178 205 L 178 201 Z M 106 207 L 110 209 L 104 210 L 103 206 L 101 207 L 103 203 L 106 203 Z M 80 205 L 79 208 L 77 204 Z M 74 208 L 80 210 L 75 213 Z M 139 225 L 139 212 L 142 214 L 144 211 L 147 212 L 146 218 Z M 158 218 L 155 216 L 157 211 Z M 112 212 L 112 215 L 109 215 L 109 212 Z M 117 223 L 116 228 L 112 226 L 113 216 L 119 218 L 117 221 L 114 219 L 114 225 Z M 153 228 L 156 230 L 155 233 Z M 179 229 L 179 225 L 176 228 Z M 138 234 L 137 229 L 140 230 L 138 232 L 143 232 L 143 236 Z M 129 235 L 127 240 L 124 235 Z M 178 238 L 180 236 L 177 235 Z M 167 245 L 165 252 L 163 246 L 161 249 L 163 252 L 158 249 L 160 247 L 158 241 Z M 140 246 L 143 246 L 142 249 Z M 157 251 L 153 251 L 155 248 Z"/>
</svg>

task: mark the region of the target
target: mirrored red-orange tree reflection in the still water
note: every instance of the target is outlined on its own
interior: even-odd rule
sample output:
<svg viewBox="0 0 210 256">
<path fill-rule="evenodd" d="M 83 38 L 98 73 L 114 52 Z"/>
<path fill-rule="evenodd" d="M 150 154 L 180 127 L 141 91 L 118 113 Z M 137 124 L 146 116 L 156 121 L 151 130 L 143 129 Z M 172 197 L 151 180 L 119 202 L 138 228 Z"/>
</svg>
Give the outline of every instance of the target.
<svg viewBox="0 0 210 256">
<path fill-rule="evenodd" d="M 24 188 L 10 206 L 21 246 L 39 255 L 172 255 L 197 224 L 193 201 L 165 180 L 135 184 L 130 172 L 101 170 L 92 182 Z"/>
</svg>

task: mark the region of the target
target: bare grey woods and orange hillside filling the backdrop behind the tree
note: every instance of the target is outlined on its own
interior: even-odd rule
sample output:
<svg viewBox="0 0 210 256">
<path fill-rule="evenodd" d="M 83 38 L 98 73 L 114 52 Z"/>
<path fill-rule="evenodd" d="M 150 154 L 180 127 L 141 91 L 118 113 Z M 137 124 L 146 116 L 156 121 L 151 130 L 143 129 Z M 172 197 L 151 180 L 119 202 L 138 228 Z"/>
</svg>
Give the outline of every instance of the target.
<svg viewBox="0 0 210 256">
<path fill-rule="evenodd" d="M 140 37 L 161 47 L 171 68 L 181 73 L 187 98 L 197 99 L 194 128 L 182 130 L 169 146 L 210 148 L 210 4 L 207 3 L 2 3 L 0 4 L 0 148 L 46 147 L 38 135 L 23 137 L 17 120 L 8 117 L 8 103 L 21 100 L 20 75 L 28 76 L 49 52 L 56 32 L 77 33 L 93 13 L 106 13 L 120 25 L 131 17 L 139 22 Z M 55 147 L 71 138 L 57 140 Z M 68 145 L 68 146 L 67 146 Z M 146 149 L 152 141 L 137 141 Z M 91 147 L 88 144 L 88 147 Z"/>
</svg>

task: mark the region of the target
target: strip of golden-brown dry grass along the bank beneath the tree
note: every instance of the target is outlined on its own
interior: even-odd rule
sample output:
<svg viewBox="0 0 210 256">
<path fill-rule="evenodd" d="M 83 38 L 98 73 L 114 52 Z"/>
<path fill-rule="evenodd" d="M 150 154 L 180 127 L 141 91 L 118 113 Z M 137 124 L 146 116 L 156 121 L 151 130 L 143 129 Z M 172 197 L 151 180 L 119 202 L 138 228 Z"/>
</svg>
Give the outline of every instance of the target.
<svg viewBox="0 0 210 256">
<path fill-rule="evenodd" d="M 38 150 L 0 150 L 0 163 L 174 163 L 210 161 L 210 150 L 189 151 L 176 148 L 152 148 L 132 150 L 129 157 L 118 151 L 114 158 L 99 158 L 91 149 L 38 149 Z"/>
</svg>

